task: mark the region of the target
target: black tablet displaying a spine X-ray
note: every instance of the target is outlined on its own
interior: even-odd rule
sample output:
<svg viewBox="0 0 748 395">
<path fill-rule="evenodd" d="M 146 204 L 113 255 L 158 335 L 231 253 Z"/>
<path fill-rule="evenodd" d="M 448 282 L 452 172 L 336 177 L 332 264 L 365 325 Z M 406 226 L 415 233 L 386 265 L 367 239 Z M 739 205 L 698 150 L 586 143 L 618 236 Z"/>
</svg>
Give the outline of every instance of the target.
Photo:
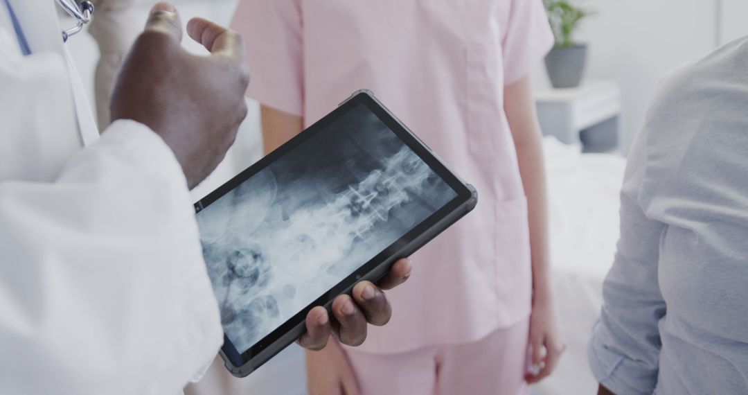
<svg viewBox="0 0 748 395">
<path fill-rule="evenodd" d="M 194 205 L 227 369 L 247 376 L 312 307 L 377 281 L 476 200 L 373 94 L 353 94 Z"/>
</svg>

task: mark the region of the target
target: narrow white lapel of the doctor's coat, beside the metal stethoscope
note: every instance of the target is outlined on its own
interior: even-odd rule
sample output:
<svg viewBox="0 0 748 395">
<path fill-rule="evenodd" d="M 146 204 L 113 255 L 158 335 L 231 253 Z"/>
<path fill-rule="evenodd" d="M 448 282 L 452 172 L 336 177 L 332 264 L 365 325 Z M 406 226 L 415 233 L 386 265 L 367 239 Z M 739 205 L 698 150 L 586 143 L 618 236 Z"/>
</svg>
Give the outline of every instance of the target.
<svg viewBox="0 0 748 395">
<path fill-rule="evenodd" d="M 96 126 L 96 121 L 93 120 L 91 105 L 88 103 L 78 70 L 76 70 L 67 48 L 63 45 L 62 29 L 54 1 L 10 0 L 10 4 L 13 6 L 32 53 L 54 51 L 65 57 L 81 142 L 85 146 L 92 144 L 99 138 L 99 129 Z"/>
</svg>

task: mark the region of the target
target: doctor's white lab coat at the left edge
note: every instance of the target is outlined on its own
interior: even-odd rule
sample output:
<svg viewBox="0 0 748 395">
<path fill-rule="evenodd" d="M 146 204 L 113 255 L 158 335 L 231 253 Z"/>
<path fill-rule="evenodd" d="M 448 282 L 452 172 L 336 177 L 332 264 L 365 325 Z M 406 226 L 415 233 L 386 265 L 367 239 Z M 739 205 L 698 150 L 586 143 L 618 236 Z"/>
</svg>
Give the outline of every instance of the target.
<svg viewBox="0 0 748 395">
<path fill-rule="evenodd" d="M 180 166 L 139 123 L 99 139 L 53 1 L 10 4 L 33 55 L 0 2 L 0 394 L 177 393 L 222 341 Z"/>
</svg>

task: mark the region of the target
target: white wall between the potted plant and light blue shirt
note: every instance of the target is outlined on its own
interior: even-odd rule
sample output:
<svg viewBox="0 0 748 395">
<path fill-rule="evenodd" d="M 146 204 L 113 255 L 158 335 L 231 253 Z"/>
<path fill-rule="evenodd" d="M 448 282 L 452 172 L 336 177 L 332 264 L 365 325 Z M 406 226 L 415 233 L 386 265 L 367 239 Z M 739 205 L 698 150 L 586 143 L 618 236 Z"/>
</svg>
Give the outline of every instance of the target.
<svg viewBox="0 0 748 395">
<path fill-rule="evenodd" d="M 747 0 L 724 0 L 742 3 Z M 622 87 L 622 150 L 628 151 L 660 79 L 715 46 L 717 0 L 575 0 L 598 14 L 577 39 L 589 43 L 588 79 L 616 79 Z M 735 6 L 733 6 L 735 7 Z M 745 25 L 735 18 L 735 25 Z M 731 25 L 732 26 L 732 25 Z M 730 34 L 740 28 L 731 28 Z M 536 83 L 545 84 L 545 70 Z"/>
</svg>

